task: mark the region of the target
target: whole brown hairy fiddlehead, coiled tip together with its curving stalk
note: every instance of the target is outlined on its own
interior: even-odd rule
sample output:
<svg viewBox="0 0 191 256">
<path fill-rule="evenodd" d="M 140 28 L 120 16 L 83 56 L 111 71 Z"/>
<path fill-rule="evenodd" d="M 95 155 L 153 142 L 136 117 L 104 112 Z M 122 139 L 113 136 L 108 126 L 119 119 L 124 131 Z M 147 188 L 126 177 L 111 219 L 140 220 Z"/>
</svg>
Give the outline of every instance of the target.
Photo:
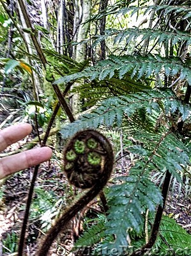
<svg viewBox="0 0 191 256">
<path fill-rule="evenodd" d="M 80 131 L 69 141 L 64 150 L 66 177 L 77 188 L 89 190 L 68 207 L 56 224 L 50 228 L 37 256 L 47 255 L 54 239 L 68 221 L 102 191 L 111 175 L 113 160 L 111 143 L 100 132 L 91 129 Z"/>
</svg>

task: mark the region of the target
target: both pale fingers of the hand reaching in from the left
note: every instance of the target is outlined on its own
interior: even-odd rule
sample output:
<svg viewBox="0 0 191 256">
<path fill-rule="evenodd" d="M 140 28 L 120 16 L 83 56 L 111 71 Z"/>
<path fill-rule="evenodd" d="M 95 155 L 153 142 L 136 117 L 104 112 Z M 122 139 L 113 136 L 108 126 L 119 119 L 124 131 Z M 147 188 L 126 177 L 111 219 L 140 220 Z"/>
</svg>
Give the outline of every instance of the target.
<svg viewBox="0 0 191 256">
<path fill-rule="evenodd" d="M 29 124 L 13 125 L 0 131 L 0 152 L 9 145 L 22 140 L 32 131 Z M 0 179 L 50 159 L 49 147 L 33 148 L 13 156 L 0 159 Z"/>
</svg>

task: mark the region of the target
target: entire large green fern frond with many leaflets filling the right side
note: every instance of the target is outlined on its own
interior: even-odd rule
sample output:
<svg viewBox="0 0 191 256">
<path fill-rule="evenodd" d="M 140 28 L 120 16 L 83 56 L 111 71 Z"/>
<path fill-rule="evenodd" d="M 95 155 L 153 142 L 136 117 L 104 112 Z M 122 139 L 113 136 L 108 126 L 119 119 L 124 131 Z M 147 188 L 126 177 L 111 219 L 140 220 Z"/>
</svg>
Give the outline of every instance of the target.
<svg viewBox="0 0 191 256">
<path fill-rule="evenodd" d="M 93 43 L 107 42 L 112 36 L 114 45 L 125 42 L 123 51 L 118 49 L 120 54 L 108 55 L 106 60 L 56 81 L 61 84 L 86 78 L 87 83 L 76 90 L 86 95 L 87 102 L 91 98 L 92 105 L 96 103 L 91 113 L 62 127 L 63 137 L 87 127 L 122 127 L 128 134 L 126 152 L 137 159 L 128 175 L 115 179 L 116 184 L 109 188 L 109 211 L 105 220 L 91 227 L 77 242 L 78 246 L 94 246 L 95 255 L 112 255 L 114 249 L 118 255 L 130 255 L 144 245 L 144 239 L 137 243 L 134 237 L 144 237 L 146 212 L 155 214 L 158 205 L 165 203 L 160 187 L 152 181 L 153 172 L 161 173 L 161 177 L 169 172 L 182 186 L 183 177 L 190 179 L 190 3 L 176 1 L 175 5 L 171 1 L 155 1 L 157 4 L 149 6 L 147 1 L 138 2 L 136 5 L 135 1 L 117 1 L 91 21 L 107 15 L 130 17 L 144 12 L 153 15 L 155 24 L 150 22 L 149 28 L 105 31 L 93 38 Z M 126 47 L 132 44 L 126 54 Z M 164 236 L 165 240 L 167 233 L 162 230 L 167 226 L 163 221 L 158 239 Z M 172 226 L 169 228 L 174 236 L 176 231 Z M 191 239 L 181 228 L 179 232 L 180 236 L 187 236 L 187 241 Z M 157 241 L 162 244 L 161 239 Z M 181 241 L 179 243 L 183 248 Z M 168 246 L 175 248 L 173 243 Z"/>
</svg>

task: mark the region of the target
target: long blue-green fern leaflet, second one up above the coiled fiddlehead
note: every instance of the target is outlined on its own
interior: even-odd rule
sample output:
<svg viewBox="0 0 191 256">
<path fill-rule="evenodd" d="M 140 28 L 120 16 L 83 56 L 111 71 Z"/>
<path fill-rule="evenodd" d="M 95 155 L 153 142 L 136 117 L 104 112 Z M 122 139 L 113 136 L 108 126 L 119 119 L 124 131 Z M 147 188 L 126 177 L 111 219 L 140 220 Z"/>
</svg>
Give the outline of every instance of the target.
<svg viewBox="0 0 191 256">
<path fill-rule="evenodd" d="M 149 60 L 148 60 L 149 58 Z M 121 70 L 121 71 L 120 71 Z M 162 58 L 161 56 L 109 56 L 108 60 L 98 62 L 94 67 L 85 68 L 82 72 L 78 72 L 69 76 L 57 79 L 55 84 L 68 83 L 75 79 L 89 77 L 93 79 L 103 80 L 106 77 L 113 77 L 114 71 L 119 72 L 120 78 L 125 76 L 127 72 L 132 72 L 131 79 L 137 74 L 139 78 L 142 76 L 149 77 L 151 74 L 160 74 L 165 70 L 169 76 L 180 73 L 181 79 L 191 81 L 191 69 L 189 63 L 182 63 L 179 58 Z M 172 71 L 173 70 L 173 71 Z M 123 75 L 123 76 L 122 76 Z"/>
</svg>

